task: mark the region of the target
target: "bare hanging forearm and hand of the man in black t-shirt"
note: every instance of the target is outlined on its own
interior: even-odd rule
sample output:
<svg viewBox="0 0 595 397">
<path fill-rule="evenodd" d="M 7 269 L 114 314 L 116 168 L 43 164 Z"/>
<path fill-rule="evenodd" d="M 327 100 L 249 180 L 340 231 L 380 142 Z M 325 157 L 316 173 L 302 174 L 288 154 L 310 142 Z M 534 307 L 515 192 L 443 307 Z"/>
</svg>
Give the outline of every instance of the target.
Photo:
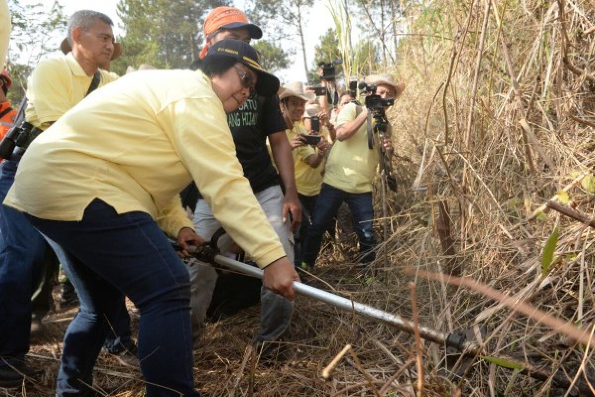
<svg viewBox="0 0 595 397">
<path fill-rule="evenodd" d="M 287 220 L 287 213 L 292 214 L 292 230 L 296 230 L 302 222 L 302 206 L 297 199 L 295 168 L 293 167 L 292 148 L 285 132 L 275 132 L 268 136 L 273 159 L 277 164 L 279 176 L 285 186 L 283 198 L 283 222 Z"/>
</svg>

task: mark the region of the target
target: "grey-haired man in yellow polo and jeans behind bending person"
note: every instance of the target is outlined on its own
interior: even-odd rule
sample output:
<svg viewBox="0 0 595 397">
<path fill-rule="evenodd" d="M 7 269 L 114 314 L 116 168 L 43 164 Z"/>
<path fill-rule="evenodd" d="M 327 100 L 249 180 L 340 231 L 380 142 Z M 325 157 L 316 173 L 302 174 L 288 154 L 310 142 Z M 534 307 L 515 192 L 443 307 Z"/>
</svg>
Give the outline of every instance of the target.
<svg viewBox="0 0 595 397">
<path fill-rule="evenodd" d="M 114 45 L 112 25 L 111 19 L 101 12 L 75 12 L 68 21 L 68 39 L 61 46 L 65 53 L 72 51 L 64 57 L 41 61 L 33 70 L 27 85 L 25 112 L 32 138 L 82 101 L 94 79 L 99 87 L 118 79 L 117 74 L 99 69 L 99 65 L 121 52 Z M 2 162 L 1 201 L 14 182 L 24 149 L 17 148 L 10 160 Z M 45 193 L 40 189 L 34 194 Z M 45 273 L 44 255 L 48 248 L 21 212 L 4 205 L 0 205 L 0 233 L 0 386 L 8 387 L 21 385 L 23 374 L 30 374 L 24 364 L 32 321 L 30 298 L 32 285 Z"/>
</svg>

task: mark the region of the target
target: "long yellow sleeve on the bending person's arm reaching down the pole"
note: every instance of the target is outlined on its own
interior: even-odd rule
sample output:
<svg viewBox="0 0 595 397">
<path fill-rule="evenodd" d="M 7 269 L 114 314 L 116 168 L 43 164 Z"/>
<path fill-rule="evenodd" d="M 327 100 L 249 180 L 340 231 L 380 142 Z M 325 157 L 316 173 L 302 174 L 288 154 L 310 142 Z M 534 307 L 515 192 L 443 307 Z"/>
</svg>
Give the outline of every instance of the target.
<svg viewBox="0 0 595 397">
<path fill-rule="evenodd" d="M 277 233 L 256 201 L 217 98 L 184 99 L 168 107 L 173 145 L 215 218 L 264 268 L 285 256 Z"/>
</svg>

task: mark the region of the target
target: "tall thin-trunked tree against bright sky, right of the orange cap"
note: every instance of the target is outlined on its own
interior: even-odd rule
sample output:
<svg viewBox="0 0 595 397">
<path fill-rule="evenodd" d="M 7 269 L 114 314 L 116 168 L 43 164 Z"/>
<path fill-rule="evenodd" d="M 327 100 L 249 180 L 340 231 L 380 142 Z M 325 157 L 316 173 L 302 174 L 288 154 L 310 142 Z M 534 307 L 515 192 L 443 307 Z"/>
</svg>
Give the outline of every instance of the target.
<svg viewBox="0 0 595 397">
<path fill-rule="evenodd" d="M 314 0 L 252 0 L 250 18 L 271 30 L 274 39 L 297 40 L 302 48 L 303 68 L 308 73 L 304 29 Z"/>
</svg>

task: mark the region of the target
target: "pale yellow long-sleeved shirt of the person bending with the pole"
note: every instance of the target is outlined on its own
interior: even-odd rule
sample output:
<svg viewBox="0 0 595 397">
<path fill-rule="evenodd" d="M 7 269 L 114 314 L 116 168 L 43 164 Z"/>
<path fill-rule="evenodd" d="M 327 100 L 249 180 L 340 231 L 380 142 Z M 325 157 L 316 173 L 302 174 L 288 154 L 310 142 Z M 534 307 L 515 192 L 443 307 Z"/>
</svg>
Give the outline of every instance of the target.
<svg viewBox="0 0 595 397">
<path fill-rule="evenodd" d="M 179 196 L 192 180 L 261 267 L 285 256 L 201 71 L 137 71 L 84 98 L 27 148 L 4 204 L 38 218 L 79 221 L 99 198 L 118 214 L 147 212 L 176 236 L 193 227 Z"/>
</svg>

